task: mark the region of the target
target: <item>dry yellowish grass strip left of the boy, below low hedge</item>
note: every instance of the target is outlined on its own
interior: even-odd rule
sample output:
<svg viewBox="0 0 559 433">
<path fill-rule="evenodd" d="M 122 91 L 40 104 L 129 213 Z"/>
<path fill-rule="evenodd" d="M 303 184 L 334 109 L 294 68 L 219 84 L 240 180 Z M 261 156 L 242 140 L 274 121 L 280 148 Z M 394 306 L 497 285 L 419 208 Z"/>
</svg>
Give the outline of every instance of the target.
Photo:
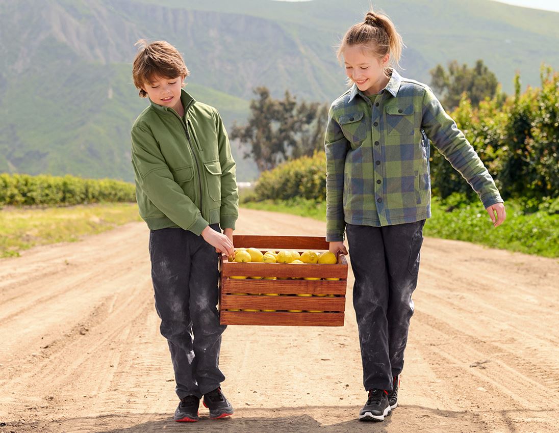
<svg viewBox="0 0 559 433">
<path fill-rule="evenodd" d="M 83 235 L 105 232 L 118 225 L 140 221 L 135 203 L 106 203 L 57 208 L 0 210 L 0 257 L 56 242 L 75 242 Z"/>
</svg>

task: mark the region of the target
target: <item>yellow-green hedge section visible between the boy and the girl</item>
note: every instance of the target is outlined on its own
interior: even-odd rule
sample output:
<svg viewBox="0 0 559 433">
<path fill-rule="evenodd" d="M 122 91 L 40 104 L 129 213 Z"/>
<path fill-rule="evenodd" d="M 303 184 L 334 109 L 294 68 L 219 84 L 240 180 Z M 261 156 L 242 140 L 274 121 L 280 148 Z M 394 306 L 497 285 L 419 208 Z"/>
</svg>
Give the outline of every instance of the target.
<svg viewBox="0 0 559 433">
<path fill-rule="evenodd" d="M 324 201 L 326 199 L 326 154 L 316 152 L 287 161 L 260 175 L 254 187 L 254 199 L 289 200 L 293 198 Z"/>
</svg>

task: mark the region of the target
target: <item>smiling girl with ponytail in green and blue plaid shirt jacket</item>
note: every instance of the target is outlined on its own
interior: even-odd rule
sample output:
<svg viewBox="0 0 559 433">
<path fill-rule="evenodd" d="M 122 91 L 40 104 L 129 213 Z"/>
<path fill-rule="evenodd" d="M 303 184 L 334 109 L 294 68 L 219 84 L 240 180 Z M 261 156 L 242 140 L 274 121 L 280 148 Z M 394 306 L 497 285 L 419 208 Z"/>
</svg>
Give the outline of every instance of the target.
<svg viewBox="0 0 559 433">
<path fill-rule="evenodd" d="M 331 104 L 325 138 L 326 240 L 331 252 L 347 254 L 347 233 L 368 391 L 359 420 L 368 421 L 382 421 L 397 406 L 431 216 L 428 139 L 480 196 L 494 226 L 505 220 L 495 182 L 432 90 L 394 69 L 401 49 L 386 15 L 368 12 L 349 28 L 338 59 L 352 86 Z"/>
</svg>

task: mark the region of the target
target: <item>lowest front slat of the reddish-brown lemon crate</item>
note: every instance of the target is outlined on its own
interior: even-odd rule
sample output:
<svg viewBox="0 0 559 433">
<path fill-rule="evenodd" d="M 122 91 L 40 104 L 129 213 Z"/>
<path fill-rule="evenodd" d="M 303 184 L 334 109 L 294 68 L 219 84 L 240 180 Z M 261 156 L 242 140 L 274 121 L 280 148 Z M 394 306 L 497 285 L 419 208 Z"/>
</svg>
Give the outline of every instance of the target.
<svg viewBox="0 0 559 433">
<path fill-rule="evenodd" d="M 222 325 L 343 326 L 344 314 L 323 312 L 221 311 Z"/>
</svg>

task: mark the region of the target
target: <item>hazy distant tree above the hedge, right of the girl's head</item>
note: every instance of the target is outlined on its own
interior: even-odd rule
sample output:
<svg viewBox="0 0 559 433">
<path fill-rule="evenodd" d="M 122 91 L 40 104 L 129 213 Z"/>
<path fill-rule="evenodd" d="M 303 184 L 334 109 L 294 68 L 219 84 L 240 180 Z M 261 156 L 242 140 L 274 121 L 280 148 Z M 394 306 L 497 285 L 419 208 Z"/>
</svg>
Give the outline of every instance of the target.
<svg viewBox="0 0 559 433">
<path fill-rule="evenodd" d="M 448 64 L 448 71 L 439 64 L 429 73 L 433 90 L 441 95 L 440 102 L 448 110 L 458 107 L 463 93 L 466 93 L 474 107 L 485 98 L 492 99 L 497 94 L 500 100 L 505 98 L 495 74 L 487 68 L 483 60 L 477 60 L 473 68 L 468 68 L 466 64 L 460 66 L 453 60 Z"/>
</svg>

